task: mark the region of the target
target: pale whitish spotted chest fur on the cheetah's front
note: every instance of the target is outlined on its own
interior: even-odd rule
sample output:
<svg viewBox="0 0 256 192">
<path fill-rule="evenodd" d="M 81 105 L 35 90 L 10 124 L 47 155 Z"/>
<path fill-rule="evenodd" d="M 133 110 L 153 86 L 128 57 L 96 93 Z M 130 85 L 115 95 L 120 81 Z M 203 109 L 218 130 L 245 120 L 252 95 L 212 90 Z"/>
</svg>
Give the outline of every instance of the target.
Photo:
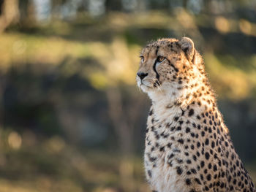
<svg viewBox="0 0 256 192">
<path fill-rule="evenodd" d="M 181 107 L 151 110 L 148 116 L 144 156 L 147 180 L 157 192 L 188 191 L 184 186 L 184 174 L 181 174 L 184 169 L 177 169 L 180 166 L 178 161 L 184 160 L 184 145 L 181 145 L 178 139 L 187 139 L 186 130 L 173 129 L 184 127 L 187 120 L 189 123 L 198 123 L 198 120 L 193 117 L 185 120 Z M 175 155 L 175 161 L 170 158 L 172 155 Z"/>
</svg>

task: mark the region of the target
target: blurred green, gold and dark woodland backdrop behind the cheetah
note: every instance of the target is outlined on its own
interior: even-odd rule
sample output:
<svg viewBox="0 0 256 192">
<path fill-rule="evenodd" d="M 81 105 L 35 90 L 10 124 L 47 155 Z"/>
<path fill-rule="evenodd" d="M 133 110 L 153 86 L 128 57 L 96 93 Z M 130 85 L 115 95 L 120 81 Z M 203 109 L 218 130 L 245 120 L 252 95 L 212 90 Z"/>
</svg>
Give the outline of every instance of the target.
<svg viewBox="0 0 256 192">
<path fill-rule="evenodd" d="M 140 48 L 191 37 L 256 181 L 256 1 L 0 0 L 0 191 L 148 192 Z"/>
</svg>

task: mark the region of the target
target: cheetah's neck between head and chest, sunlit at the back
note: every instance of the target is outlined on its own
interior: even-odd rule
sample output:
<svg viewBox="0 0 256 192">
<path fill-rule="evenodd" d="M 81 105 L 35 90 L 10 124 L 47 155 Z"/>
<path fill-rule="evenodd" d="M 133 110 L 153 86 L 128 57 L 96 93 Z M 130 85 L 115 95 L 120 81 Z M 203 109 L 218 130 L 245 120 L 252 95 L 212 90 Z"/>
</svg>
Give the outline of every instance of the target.
<svg viewBox="0 0 256 192">
<path fill-rule="evenodd" d="M 215 108 L 216 99 L 205 74 L 197 73 L 197 78 L 190 80 L 181 90 L 177 85 L 171 85 L 169 89 L 148 93 L 157 117 L 167 118 L 170 114 L 182 113 L 190 105 L 195 104 L 197 113 Z M 176 94 L 173 94 L 176 90 Z"/>
</svg>

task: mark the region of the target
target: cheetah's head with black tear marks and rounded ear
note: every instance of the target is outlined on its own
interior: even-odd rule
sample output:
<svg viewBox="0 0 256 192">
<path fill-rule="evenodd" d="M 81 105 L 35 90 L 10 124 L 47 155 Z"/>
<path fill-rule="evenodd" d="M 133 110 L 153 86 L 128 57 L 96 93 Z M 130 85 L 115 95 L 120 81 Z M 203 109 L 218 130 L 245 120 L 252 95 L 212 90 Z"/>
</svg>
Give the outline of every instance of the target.
<svg viewBox="0 0 256 192">
<path fill-rule="evenodd" d="M 150 97 L 156 93 L 181 96 L 189 82 L 204 74 L 203 60 L 188 37 L 152 42 L 140 58 L 137 84 Z"/>
</svg>

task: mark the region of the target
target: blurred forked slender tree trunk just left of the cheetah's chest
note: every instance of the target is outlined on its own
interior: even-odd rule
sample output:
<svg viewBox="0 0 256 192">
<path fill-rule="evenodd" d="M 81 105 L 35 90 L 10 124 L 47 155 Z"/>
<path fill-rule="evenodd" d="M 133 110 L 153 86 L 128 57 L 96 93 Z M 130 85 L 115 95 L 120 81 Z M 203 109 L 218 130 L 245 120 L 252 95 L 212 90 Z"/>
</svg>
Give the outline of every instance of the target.
<svg viewBox="0 0 256 192">
<path fill-rule="evenodd" d="M 122 97 L 120 88 L 108 88 L 107 90 L 109 115 L 112 120 L 118 137 L 118 147 L 121 151 L 122 159 L 119 165 L 119 173 L 121 177 L 121 185 L 127 191 L 132 191 L 134 188 L 134 166 L 132 164 L 132 155 L 134 155 L 133 139 L 135 122 L 138 122 L 139 114 L 144 104 L 141 98 L 136 95 L 129 94 L 129 98 Z M 127 101 L 124 104 L 124 100 Z"/>
</svg>

